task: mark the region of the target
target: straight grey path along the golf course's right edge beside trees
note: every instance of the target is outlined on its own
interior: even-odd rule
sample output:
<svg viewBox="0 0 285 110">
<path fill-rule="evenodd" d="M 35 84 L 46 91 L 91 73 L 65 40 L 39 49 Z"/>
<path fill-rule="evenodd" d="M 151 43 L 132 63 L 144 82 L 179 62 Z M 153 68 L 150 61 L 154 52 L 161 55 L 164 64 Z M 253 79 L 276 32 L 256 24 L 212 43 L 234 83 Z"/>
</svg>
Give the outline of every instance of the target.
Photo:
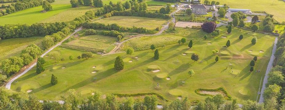
<svg viewBox="0 0 285 110">
<path fill-rule="evenodd" d="M 260 98 L 259 98 L 259 103 L 263 103 L 263 101 L 264 101 L 263 93 L 264 93 L 264 90 L 265 90 L 265 84 L 267 83 L 268 73 L 270 72 L 270 69 L 273 67 L 272 64 L 273 64 L 273 61 L 275 59 L 274 53 L 276 51 L 277 40 L 278 39 L 276 37 L 275 41 L 274 41 L 274 45 L 273 45 L 270 61 L 269 61 L 268 65 L 267 65 L 266 73 L 265 73 L 265 76 L 264 76 L 264 80 L 263 80 L 263 84 L 262 84 L 262 88 L 261 88 L 261 94 L 260 94 Z"/>
</svg>

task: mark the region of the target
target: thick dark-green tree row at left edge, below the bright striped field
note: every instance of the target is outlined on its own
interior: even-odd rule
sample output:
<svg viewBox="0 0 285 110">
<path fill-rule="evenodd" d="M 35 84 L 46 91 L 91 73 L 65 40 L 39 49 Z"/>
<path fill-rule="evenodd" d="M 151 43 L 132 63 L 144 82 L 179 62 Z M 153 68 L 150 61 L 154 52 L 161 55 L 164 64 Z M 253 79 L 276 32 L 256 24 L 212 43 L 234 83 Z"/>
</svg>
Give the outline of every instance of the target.
<svg viewBox="0 0 285 110">
<path fill-rule="evenodd" d="M 2 39 L 9 39 L 17 37 L 45 36 L 61 31 L 67 26 L 68 24 L 64 22 L 34 23 L 31 26 L 27 24 L 5 25 L 0 26 L 0 37 Z"/>
</svg>

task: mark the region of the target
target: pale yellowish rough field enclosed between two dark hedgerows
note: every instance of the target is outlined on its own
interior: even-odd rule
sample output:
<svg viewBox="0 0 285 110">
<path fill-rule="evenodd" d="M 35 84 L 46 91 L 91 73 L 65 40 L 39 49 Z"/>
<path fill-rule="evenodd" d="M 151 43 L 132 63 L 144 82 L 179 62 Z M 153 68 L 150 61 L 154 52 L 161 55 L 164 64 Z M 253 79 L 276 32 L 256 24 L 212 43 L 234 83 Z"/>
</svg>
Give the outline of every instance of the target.
<svg viewBox="0 0 285 110">
<path fill-rule="evenodd" d="M 161 25 L 166 24 L 167 20 L 158 18 L 145 18 L 145 17 L 135 17 L 135 16 L 113 16 L 110 18 L 104 18 L 100 20 L 95 20 L 93 22 L 99 22 L 104 24 L 117 23 L 119 26 L 125 27 L 144 27 L 146 29 L 155 29 L 156 27 L 161 27 Z"/>
</svg>

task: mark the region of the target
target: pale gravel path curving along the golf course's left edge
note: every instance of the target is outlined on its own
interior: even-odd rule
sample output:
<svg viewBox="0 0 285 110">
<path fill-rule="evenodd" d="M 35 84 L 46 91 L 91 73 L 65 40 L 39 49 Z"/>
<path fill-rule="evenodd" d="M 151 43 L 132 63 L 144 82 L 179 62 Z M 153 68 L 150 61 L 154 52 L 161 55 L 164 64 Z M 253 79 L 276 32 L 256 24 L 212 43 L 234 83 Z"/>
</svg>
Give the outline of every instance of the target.
<svg viewBox="0 0 285 110">
<path fill-rule="evenodd" d="M 68 39 L 69 37 L 71 37 L 73 34 L 75 34 L 76 32 L 80 31 L 82 29 L 82 27 L 76 29 L 72 34 L 70 34 L 68 37 L 64 38 L 61 42 L 58 42 L 57 45 L 54 45 L 52 48 L 50 48 L 48 51 L 46 51 L 44 54 L 41 55 L 41 57 L 44 57 L 47 53 L 49 53 L 51 50 L 53 50 L 54 48 L 56 48 L 57 46 L 61 45 L 62 42 L 64 42 L 66 39 Z M 14 77 L 13 79 L 11 79 L 7 84 L 6 84 L 6 88 L 10 89 L 11 88 L 11 84 L 12 82 L 14 82 L 16 79 L 18 79 L 19 77 L 21 77 L 22 75 L 24 75 L 25 73 L 27 73 L 30 69 L 32 69 L 37 63 L 32 64 L 28 69 L 26 69 L 23 73 L 17 75 L 16 77 Z"/>
</svg>

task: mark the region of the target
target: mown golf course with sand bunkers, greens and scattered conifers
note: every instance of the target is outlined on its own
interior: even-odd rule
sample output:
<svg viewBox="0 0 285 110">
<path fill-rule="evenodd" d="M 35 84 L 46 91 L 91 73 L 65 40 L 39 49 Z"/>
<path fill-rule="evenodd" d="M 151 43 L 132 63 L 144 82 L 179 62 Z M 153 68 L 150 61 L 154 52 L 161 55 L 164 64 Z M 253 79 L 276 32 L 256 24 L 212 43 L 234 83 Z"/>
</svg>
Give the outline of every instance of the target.
<svg viewBox="0 0 285 110">
<path fill-rule="evenodd" d="M 68 59 L 70 55 L 76 57 L 83 53 L 57 47 L 44 57 L 47 63 L 44 65 L 43 73 L 37 75 L 36 69 L 33 68 L 14 81 L 11 89 L 32 90 L 30 93 L 39 99 L 48 100 L 61 100 L 60 96 L 64 95 L 68 89 L 76 89 L 76 92 L 84 96 L 91 96 L 93 91 L 103 93 L 157 92 L 170 100 L 178 96 L 187 96 L 189 100 L 204 100 L 206 96 L 196 94 L 196 89 L 224 87 L 226 92 L 238 101 L 256 100 L 260 79 L 265 74 L 275 37 L 237 28 L 233 28 L 232 33 L 227 34 L 224 26 L 218 29 L 220 36 L 214 38 L 208 36 L 208 39 L 204 40 L 202 32 L 193 34 L 197 31 L 178 28 L 179 31 L 175 32 L 177 35 L 173 37 L 180 39 L 186 37 L 187 43 L 166 45 L 165 48 L 157 47 L 160 54 L 159 60 L 154 60 L 154 52 L 148 49 L 135 51 L 133 55 L 116 53 L 100 56 L 94 54 L 93 58 L 89 59 L 65 60 L 55 63 L 48 56 L 53 52 L 61 53 L 61 57 L 65 59 Z M 170 36 L 175 33 L 163 33 L 163 35 Z M 240 34 L 244 35 L 244 39 L 238 39 Z M 254 36 L 258 39 L 256 45 L 251 44 Z M 158 39 L 161 38 L 163 37 Z M 146 44 L 157 44 L 157 36 L 148 39 L 153 39 L 154 42 L 146 40 L 148 42 Z M 188 48 L 189 40 L 193 40 L 191 49 Z M 227 40 L 231 41 L 231 46 L 222 47 Z M 139 43 L 141 42 L 137 42 L 141 45 Z M 220 52 L 213 55 L 211 52 L 213 49 L 218 49 Z M 193 62 L 190 59 L 192 53 L 198 54 L 200 60 Z M 121 71 L 114 69 L 115 57 L 118 55 L 123 57 L 125 63 L 125 69 Z M 216 56 L 219 56 L 218 62 L 214 60 Z M 250 73 L 249 62 L 254 56 L 257 56 L 258 60 L 255 70 Z M 187 73 L 190 69 L 196 73 L 192 77 L 189 77 Z M 260 73 L 256 72 L 258 69 Z M 51 74 L 59 79 L 58 84 L 54 86 L 50 84 Z M 159 88 L 155 87 L 157 83 L 159 83 Z"/>
</svg>

